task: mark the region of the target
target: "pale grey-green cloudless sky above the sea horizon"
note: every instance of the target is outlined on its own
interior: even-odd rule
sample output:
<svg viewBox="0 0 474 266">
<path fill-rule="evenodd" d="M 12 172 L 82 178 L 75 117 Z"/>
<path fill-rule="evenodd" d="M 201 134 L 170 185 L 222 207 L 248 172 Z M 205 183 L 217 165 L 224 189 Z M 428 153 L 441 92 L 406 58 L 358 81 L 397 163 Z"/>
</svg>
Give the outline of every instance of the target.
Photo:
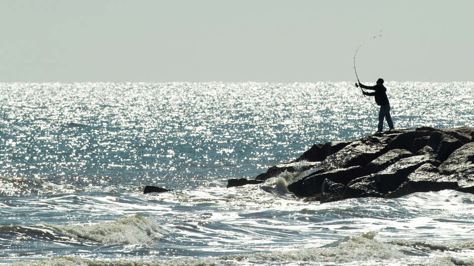
<svg viewBox="0 0 474 266">
<path fill-rule="evenodd" d="M 474 81 L 472 0 L 0 0 L 0 82 Z"/>
</svg>

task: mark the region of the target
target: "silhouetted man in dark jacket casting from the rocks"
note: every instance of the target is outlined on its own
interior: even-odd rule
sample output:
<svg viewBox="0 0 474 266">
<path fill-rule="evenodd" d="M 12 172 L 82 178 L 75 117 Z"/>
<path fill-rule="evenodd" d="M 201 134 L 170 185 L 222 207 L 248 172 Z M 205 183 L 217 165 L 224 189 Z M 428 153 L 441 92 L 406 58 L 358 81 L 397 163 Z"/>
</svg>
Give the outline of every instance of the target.
<svg viewBox="0 0 474 266">
<path fill-rule="evenodd" d="M 390 102 L 387 98 L 387 94 L 385 93 L 387 91 L 387 88 L 385 88 L 384 86 L 384 80 L 381 78 L 377 79 L 377 85 L 375 86 L 365 86 L 360 82 L 358 83 L 358 86 L 363 89 L 373 90 L 373 93 L 368 93 L 364 91 L 362 91 L 362 93 L 367 96 L 374 96 L 375 102 L 377 103 L 377 105 L 380 105 L 379 125 L 377 132 L 382 132 L 382 130 L 384 129 L 384 118 L 387 120 L 389 128 L 391 130 L 394 129 L 394 122 L 392 121 L 392 117 L 390 116 Z"/>
</svg>

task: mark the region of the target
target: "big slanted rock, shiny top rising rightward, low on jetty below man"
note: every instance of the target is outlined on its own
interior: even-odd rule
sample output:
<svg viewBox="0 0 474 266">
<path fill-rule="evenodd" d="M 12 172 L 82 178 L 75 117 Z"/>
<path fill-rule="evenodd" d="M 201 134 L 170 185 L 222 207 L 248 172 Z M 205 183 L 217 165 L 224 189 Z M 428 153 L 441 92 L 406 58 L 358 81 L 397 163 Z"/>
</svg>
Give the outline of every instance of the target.
<svg viewBox="0 0 474 266">
<path fill-rule="evenodd" d="M 395 164 L 388 166 L 385 170 L 373 174 L 378 190 L 384 194 L 389 191 L 395 191 L 398 186 L 407 181 L 410 173 L 426 163 L 432 165 L 440 164 L 439 161 L 436 161 L 430 155 L 417 155 L 401 159 Z"/>
</svg>

